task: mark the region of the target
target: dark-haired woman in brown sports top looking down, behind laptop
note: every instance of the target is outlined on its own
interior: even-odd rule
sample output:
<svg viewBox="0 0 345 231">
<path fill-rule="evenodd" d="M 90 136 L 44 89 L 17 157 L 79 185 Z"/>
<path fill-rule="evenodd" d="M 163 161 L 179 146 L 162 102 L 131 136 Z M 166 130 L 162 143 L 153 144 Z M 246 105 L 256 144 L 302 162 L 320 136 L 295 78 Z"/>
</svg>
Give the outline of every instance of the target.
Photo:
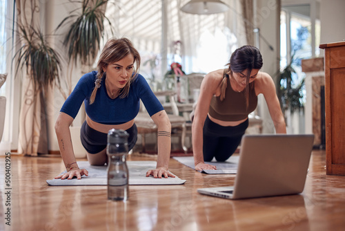
<svg viewBox="0 0 345 231">
<path fill-rule="evenodd" d="M 262 55 L 255 46 L 235 50 L 227 69 L 208 73 L 201 83 L 192 125 L 195 170 L 216 169 L 205 164 L 214 157 L 227 160 L 237 149 L 248 127 L 248 114 L 257 107 L 262 93 L 277 133 L 286 124 L 272 77 L 259 71 Z"/>
</svg>

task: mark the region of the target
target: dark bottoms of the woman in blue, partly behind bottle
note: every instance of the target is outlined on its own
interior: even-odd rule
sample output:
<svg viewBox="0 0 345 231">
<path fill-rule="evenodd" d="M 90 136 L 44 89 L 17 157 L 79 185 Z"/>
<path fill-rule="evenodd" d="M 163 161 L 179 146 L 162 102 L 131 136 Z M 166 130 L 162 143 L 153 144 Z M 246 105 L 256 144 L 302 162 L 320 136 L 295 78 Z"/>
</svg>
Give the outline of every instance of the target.
<svg viewBox="0 0 345 231">
<path fill-rule="evenodd" d="M 132 127 L 126 130 L 129 134 L 128 137 L 128 151 L 132 149 L 137 142 L 137 125 L 133 124 Z M 80 139 L 83 147 L 89 154 L 97 154 L 107 147 L 108 133 L 103 133 L 92 129 L 88 126 L 86 121 L 81 125 Z"/>
</svg>

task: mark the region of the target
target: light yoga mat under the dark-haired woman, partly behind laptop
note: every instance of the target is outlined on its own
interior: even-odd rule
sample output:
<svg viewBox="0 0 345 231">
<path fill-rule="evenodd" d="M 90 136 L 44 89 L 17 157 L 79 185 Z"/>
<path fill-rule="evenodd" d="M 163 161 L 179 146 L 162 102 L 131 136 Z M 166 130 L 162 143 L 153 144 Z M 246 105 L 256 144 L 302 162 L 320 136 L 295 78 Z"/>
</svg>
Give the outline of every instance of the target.
<svg viewBox="0 0 345 231">
<path fill-rule="evenodd" d="M 173 158 L 179 161 L 179 163 L 184 164 L 192 169 L 195 169 L 193 156 L 174 156 Z M 228 160 L 226 160 L 225 162 L 217 162 L 215 158 L 213 158 L 212 161 L 206 161 L 205 163 L 209 165 L 215 165 L 217 169 L 203 169 L 202 171 L 198 172 L 203 172 L 205 174 L 236 174 L 238 161 L 238 155 L 230 156 L 230 158 L 228 158 Z"/>
</svg>

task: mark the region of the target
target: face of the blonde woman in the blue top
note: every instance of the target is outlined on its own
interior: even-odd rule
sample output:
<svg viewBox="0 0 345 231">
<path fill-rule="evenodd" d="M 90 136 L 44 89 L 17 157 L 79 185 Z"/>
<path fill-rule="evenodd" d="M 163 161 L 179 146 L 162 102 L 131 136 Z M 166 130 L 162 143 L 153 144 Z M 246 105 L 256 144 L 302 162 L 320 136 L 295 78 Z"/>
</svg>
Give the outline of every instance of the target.
<svg viewBox="0 0 345 231">
<path fill-rule="evenodd" d="M 122 89 L 132 77 L 133 68 L 134 57 L 129 54 L 113 64 L 108 64 L 103 71 L 106 71 L 106 79 L 112 89 Z"/>
</svg>

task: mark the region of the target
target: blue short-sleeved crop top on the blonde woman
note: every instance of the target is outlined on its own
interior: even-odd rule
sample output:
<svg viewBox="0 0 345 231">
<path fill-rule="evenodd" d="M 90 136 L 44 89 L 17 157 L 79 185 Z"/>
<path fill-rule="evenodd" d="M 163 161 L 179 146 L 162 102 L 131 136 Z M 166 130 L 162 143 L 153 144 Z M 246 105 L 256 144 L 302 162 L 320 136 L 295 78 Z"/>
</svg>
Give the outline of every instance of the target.
<svg viewBox="0 0 345 231">
<path fill-rule="evenodd" d="M 80 78 L 75 89 L 63 104 L 61 112 L 75 118 L 84 101 L 86 114 L 91 120 L 101 124 L 123 124 L 137 116 L 140 99 L 150 116 L 164 110 L 144 77 L 139 74 L 130 84 L 127 97 L 115 99 L 109 97 L 106 84 L 104 84 L 105 77 L 102 77 L 101 87 L 97 91 L 95 102 L 90 104 L 90 95 L 95 88 L 96 75 L 97 71 L 92 71 Z"/>
</svg>

